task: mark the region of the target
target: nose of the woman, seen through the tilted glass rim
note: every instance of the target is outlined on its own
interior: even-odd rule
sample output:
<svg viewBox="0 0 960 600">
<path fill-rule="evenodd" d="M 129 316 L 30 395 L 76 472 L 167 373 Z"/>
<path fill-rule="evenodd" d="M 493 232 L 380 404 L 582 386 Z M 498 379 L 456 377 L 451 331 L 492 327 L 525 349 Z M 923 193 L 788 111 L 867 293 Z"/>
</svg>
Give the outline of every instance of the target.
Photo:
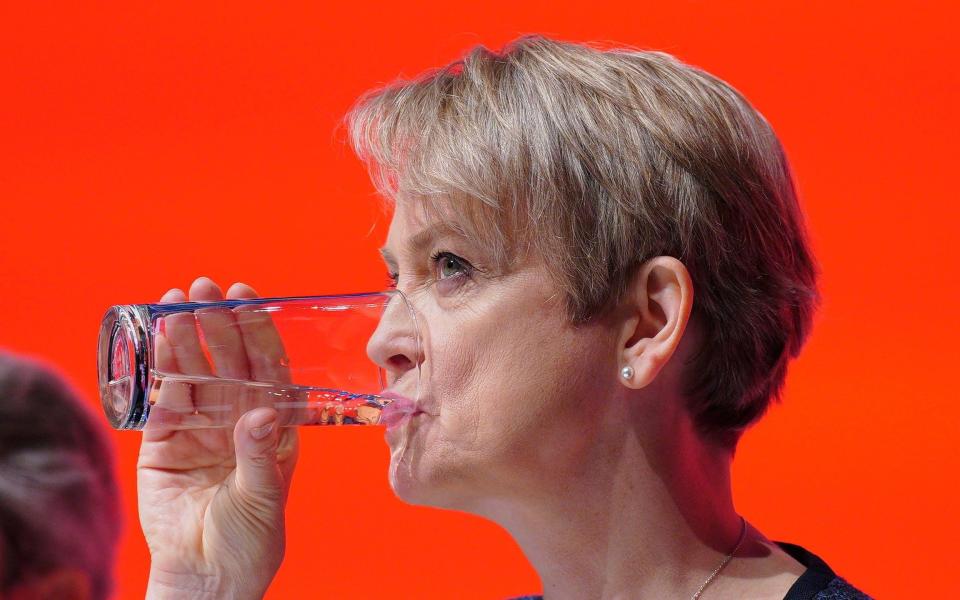
<svg viewBox="0 0 960 600">
<path fill-rule="evenodd" d="M 413 307 L 399 290 L 391 293 L 380 322 L 367 341 L 367 356 L 386 373 L 387 387 L 393 388 L 404 376 L 416 376 L 420 335 Z M 404 391 L 413 392 L 416 383 L 409 385 L 411 389 Z"/>
</svg>

